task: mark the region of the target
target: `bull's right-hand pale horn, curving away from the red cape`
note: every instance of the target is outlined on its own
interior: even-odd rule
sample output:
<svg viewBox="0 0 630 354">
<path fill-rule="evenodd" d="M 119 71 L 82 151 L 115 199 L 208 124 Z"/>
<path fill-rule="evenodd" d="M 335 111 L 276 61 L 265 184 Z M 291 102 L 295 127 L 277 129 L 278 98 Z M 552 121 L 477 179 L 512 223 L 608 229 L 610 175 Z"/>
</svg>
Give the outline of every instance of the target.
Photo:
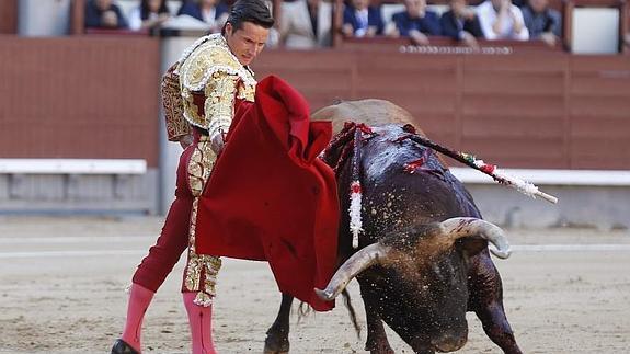
<svg viewBox="0 0 630 354">
<path fill-rule="evenodd" d="M 496 249 L 490 248 L 490 251 L 500 259 L 506 259 L 512 253 L 505 233 L 492 222 L 460 217 L 442 221 L 440 228 L 442 232 L 448 235 L 453 241 L 463 237 L 480 236 L 496 247 Z"/>
</svg>

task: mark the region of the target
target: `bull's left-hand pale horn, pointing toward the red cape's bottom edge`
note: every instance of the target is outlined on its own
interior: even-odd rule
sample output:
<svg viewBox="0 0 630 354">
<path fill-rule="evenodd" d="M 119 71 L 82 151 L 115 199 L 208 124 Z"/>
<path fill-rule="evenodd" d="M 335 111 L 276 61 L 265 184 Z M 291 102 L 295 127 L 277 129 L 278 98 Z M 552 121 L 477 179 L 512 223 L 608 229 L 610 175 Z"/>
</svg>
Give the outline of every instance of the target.
<svg viewBox="0 0 630 354">
<path fill-rule="evenodd" d="M 390 250 L 391 248 L 388 245 L 373 243 L 356 252 L 334 273 L 325 289 L 314 289 L 317 295 L 325 301 L 334 299 L 343 292 L 350 281 L 367 267 L 380 263 Z"/>
</svg>

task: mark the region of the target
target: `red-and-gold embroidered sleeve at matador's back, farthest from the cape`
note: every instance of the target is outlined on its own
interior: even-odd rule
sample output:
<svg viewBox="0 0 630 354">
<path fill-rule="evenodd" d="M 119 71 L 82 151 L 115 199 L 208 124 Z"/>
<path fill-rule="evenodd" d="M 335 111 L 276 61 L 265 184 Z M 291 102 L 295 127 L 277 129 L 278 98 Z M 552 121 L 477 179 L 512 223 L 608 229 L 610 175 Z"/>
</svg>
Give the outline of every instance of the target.
<svg viewBox="0 0 630 354">
<path fill-rule="evenodd" d="M 162 77 L 161 93 L 164 117 L 167 121 L 167 138 L 179 141 L 182 136 L 191 134 L 191 125 L 184 118 L 184 104 L 180 91 L 180 76 L 175 73 L 176 64 L 167 70 Z"/>
</svg>

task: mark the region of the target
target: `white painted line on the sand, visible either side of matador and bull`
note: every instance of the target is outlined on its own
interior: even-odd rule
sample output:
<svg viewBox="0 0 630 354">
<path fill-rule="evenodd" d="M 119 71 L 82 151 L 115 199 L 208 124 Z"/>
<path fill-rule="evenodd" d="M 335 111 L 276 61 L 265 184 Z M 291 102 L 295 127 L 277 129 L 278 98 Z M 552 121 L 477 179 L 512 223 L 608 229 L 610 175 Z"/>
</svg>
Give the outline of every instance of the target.
<svg viewBox="0 0 630 354">
<path fill-rule="evenodd" d="M 630 252 L 630 244 L 515 244 L 518 252 Z M 0 259 L 96 256 L 96 255 L 145 255 L 148 250 L 100 250 L 100 251 L 33 251 L 0 252 Z M 513 253 L 513 254 L 514 254 Z"/>
</svg>

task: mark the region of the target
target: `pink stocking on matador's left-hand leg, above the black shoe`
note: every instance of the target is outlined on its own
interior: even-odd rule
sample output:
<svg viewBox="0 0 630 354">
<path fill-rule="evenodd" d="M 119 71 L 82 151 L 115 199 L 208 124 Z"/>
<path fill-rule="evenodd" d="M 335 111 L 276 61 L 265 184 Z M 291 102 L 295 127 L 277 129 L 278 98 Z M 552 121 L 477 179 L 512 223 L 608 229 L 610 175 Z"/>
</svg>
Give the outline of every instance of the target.
<svg viewBox="0 0 630 354">
<path fill-rule="evenodd" d="M 151 304 L 156 293 L 138 285 L 133 284 L 129 292 L 129 305 L 127 306 L 127 322 L 123 331 L 123 341 L 127 342 L 136 351 L 141 352 L 140 336 L 142 334 L 142 319 L 145 312 Z"/>
</svg>

